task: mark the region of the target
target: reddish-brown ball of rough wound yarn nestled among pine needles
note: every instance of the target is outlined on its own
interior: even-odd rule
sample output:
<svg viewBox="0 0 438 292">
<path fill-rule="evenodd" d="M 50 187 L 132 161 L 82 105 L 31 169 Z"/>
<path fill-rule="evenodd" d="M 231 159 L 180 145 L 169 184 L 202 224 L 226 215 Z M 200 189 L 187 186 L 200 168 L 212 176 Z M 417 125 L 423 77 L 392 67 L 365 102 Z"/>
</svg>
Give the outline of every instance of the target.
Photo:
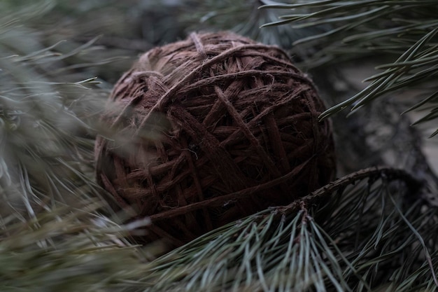
<svg viewBox="0 0 438 292">
<path fill-rule="evenodd" d="M 313 83 L 280 48 L 191 34 L 142 55 L 115 85 L 97 180 L 181 245 L 334 178 L 332 131 Z"/>
</svg>

